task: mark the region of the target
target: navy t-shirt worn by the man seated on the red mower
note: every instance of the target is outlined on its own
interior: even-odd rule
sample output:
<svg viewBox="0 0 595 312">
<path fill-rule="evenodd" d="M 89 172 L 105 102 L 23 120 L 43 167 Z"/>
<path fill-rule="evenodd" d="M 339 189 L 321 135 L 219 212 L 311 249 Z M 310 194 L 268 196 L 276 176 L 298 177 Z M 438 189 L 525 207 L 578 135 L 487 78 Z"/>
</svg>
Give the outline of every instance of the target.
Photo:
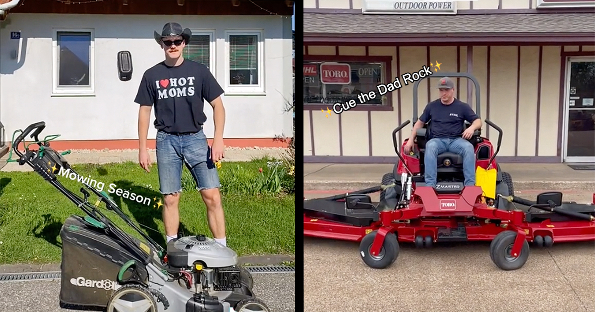
<svg viewBox="0 0 595 312">
<path fill-rule="evenodd" d="M 465 121 L 472 123 L 479 118 L 467 103 L 455 99 L 450 105 L 443 104 L 440 99 L 425 106 L 419 120 L 427 123 L 431 119 L 430 138 L 461 137 L 465 131 Z"/>
</svg>

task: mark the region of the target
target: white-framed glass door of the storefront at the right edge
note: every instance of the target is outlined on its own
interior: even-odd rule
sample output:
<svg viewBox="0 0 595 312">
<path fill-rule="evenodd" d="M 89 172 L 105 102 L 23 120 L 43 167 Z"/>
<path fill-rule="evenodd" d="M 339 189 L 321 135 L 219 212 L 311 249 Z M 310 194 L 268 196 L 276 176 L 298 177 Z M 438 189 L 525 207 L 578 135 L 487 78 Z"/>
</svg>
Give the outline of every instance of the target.
<svg viewBox="0 0 595 312">
<path fill-rule="evenodd" d="M 595 59 L 570 58 L 565 85 L 565 162 L 595 162 Z"/>
</svg>

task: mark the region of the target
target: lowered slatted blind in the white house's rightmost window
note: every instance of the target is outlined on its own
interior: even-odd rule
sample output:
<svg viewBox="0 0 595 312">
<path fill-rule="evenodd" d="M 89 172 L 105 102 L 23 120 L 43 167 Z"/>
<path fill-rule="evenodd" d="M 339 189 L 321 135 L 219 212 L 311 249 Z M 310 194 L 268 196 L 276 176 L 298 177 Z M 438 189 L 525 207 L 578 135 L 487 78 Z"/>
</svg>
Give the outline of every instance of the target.
<svg viewBox="0 0 595 312">
<path fill-rule="evenodd" d="M 256 36 L 229 36 L 230 70 L 258 68 Z"/>
</svg>

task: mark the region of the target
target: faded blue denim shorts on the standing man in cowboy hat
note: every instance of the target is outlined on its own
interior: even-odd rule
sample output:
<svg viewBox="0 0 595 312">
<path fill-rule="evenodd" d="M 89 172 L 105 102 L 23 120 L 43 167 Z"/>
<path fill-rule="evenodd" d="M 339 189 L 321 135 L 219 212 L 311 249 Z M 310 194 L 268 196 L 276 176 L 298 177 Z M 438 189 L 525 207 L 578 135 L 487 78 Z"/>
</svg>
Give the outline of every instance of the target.
<svg viewBox="0 0 595 312">
<path fill-rule="evenodd" d="M 220 187 L 217 167 L 203 131 L 195 134 L 168 134 L 158 131 L 155 138 L 159 191 L 180 193 L 182 163 L 189 169 L 198 190 Z"/>
</svg>

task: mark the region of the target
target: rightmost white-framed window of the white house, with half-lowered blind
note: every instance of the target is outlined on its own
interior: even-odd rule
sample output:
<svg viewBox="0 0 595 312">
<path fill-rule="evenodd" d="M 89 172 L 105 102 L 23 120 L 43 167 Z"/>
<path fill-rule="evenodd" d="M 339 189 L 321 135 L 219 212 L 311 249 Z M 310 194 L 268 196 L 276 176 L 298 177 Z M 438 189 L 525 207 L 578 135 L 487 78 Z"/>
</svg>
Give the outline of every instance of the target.
<svg viewBox="0 0 595 312">
<path fill-rule="evenodd" d="M 264 92 L 261 33 L 227 34 L 227 89 L 233 92 Z"/>
</svg>

